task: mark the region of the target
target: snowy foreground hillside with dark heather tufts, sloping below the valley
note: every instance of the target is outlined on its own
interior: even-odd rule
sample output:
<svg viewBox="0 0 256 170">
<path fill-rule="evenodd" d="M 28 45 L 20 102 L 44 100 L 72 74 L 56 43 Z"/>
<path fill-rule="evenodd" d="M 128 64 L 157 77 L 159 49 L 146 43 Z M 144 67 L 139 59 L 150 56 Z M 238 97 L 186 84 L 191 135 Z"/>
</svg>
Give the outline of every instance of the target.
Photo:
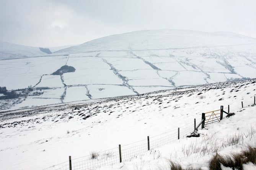
<svg viewBox="0 0 256 170">
<path fill-rule="evenodd" d="M 5 170 L 68 170 L 71 155 L 73 170 L 167 170 L 167 160 L 183 168 L 209 170 L 214 152 L 230 154 L 241 152 L 247 144 L 255 146 L 255 95 L 256 79 L 250 79 L 2 111 L 0 165 Z M 230 105 L 235 115 L 224 115 L 219 123 L 199 130 L 199 138 L 186 138 L 194 130 L 194 118 L 199 123 L 201 113 L 218 110 L 220 105 L 225 111 Z M 237 142 L 230 142 L 233 139 Z M 122 163 L 115 155 L 119 144 Z M 108 160 L 113 162 L 106 166 Z M 255 169 L 251 163 L 243 166 Z"/>
</svg>

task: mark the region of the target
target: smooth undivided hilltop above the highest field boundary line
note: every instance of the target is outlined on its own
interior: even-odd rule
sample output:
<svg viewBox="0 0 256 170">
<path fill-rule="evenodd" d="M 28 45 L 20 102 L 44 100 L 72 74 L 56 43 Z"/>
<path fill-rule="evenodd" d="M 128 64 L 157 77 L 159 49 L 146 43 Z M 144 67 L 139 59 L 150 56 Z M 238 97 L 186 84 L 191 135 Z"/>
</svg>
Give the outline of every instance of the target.
<svg viewBox="0 0 256 170">
<path fill-rule="evenodd" d="M 143 30 L 107 36 L 56 53 L 104 50 L 153 50 L 256 44 L 256 39 L 232 32 Z"/>
</svg>

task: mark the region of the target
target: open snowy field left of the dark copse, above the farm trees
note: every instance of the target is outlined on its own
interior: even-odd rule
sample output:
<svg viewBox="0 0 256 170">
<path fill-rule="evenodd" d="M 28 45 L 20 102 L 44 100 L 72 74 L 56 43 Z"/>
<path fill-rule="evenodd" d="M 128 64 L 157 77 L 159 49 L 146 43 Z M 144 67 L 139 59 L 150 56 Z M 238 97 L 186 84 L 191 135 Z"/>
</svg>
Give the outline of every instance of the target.
<svg viewBox="0 0 256 170">
<path fill-rule="evenodd" d="M 66 61 L 66 56 L 0 60 L 2 72 L 0 74 L 0 84 L 1 86 L 6 86 L 8 90 L 22 89 L 30 85 L 36 86 L 44 74 L 52 74 L 61 66 L 65 65 Z M 59 79 L 55 81 L 58 83 Z M 41 84 L 39 83 L 38 86 L 41 86 Z M 42 86 L 45 86 L 44 82 L 42 82 Z"/>
</svg>

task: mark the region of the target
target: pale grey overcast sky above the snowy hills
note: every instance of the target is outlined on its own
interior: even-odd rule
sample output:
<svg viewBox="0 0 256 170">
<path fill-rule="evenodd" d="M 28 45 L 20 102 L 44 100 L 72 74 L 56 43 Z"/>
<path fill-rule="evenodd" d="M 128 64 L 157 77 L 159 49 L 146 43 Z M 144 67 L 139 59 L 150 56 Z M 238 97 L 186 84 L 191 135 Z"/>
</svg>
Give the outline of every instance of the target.
<svg viewBox="0 0 256 170">
<path fill-rule="evenodd" d="M 256 0 L 0 0 L 0 40 L 14 44 L 74 45 L 143 29 L 256 38 Z"/>
</svg>

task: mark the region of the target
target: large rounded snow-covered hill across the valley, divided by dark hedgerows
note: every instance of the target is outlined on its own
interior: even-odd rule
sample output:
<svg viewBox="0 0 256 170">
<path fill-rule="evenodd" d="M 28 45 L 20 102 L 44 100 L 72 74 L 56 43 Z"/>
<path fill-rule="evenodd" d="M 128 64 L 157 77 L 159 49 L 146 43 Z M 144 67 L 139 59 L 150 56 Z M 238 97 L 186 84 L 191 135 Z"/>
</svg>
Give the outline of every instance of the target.
<svg viewBox="0 0 256 170">
<path fill-rule="evenodd" d="M 33 87 L 15 100 L 0 100 L 0 106 L 31 107 L 255 78 L 255 56 L 256 39 L 230 32 L 163 29 L 113 35 L 49 55 L 0 61 L 0 86 Z M 56 71 L 59 75 L 52 74 Z"/>
</svg>

